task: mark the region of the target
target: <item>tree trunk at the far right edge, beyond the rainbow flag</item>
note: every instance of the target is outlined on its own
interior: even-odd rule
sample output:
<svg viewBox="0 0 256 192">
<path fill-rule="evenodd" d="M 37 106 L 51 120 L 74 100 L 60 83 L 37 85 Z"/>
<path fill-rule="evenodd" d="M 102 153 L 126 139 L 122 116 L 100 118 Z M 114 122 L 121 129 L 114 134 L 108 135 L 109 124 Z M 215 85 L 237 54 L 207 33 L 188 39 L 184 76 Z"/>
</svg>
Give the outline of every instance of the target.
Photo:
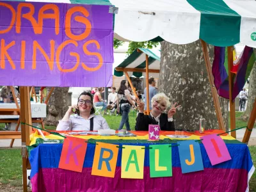
<svg viewBox="0 0 256 192">
<path fill-rule="evenodd" d="M 256 54 L 256 49 L 253 49 Z M 249 81 L 249 92 L 248 92 L 248 102 L 246 110 L 243 115 L 241 115 L 241 119 L 244 121 L 248 121 L 251 111 L 253 108 L 254 101 L 256 99 L 256 62 L 253 65 L 252 71 L 250 73 L 250 81 Z"/>
</svg>

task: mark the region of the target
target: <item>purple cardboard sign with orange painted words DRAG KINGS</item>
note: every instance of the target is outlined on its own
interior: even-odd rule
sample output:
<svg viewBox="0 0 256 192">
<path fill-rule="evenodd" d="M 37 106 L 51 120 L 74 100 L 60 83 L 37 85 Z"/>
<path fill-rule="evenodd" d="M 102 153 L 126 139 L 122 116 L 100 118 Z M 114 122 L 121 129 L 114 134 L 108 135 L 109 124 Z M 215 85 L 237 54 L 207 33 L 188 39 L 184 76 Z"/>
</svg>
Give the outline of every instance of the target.
<svg viewBox="0 0 256 192">
<path fill-rule="evenodd" d="M 0 84 L 112 86 L 109 6 L 1 1 Z"/>
</svg>

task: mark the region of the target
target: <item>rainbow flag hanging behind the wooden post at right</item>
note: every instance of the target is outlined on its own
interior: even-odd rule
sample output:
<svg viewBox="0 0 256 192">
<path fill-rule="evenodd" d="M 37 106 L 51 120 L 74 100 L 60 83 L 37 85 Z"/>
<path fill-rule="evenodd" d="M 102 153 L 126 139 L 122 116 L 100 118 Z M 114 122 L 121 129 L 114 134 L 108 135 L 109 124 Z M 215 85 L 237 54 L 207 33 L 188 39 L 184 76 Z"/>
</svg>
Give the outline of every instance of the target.
<svg viewBox="0 0 256 192">
<path fill-rule="evenodd" d="M 234 60 L 234 58 L 233 58 Z M 234 61 L 231 72 L 235 74 L 232 100 L 243 90 L 246 80 L 250 76 L 255 54 L 252 47 L 245 46 L 238 60 Z M 228 86 L 228 54 L 227 47 L 214 47 L 214 61 L 212 63 L 214 84 L 220 97 L 229 99 Z"/>
</svg>

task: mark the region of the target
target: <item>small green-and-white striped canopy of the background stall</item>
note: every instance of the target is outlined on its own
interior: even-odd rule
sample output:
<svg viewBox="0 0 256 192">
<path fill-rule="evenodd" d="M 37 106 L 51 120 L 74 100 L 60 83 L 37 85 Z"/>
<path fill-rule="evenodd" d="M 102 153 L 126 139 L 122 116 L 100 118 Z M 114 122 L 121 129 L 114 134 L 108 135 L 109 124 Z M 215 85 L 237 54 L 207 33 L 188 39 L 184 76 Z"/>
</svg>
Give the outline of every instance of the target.
<svg viewBox="0 0 256 192">
<path fill-rule="evenodd" d="M 124 75 L 124 72 L 120 70 L 125 70 L 125 68 L 135 68 L 139 70 L 145 70 L 146 68 L 146 54 L 148 55 L 148 69 L 159 70 L 160 68 L 160 56 L 161 52 L 159 49 L 144 49 L 138 48 L 140 51 L 135 50 L 129 55 L 120 65 L 118 65 L 114 70 L 114 75 L 121 77 Z M 117 70 L 119 68 L 120 70 Z M 145 72 L 127 72 L 129 76 L 141 77 L 146 76 Z M 158 77 L 159 74 L 148 73 L 149 76 Z"/>
</svg>

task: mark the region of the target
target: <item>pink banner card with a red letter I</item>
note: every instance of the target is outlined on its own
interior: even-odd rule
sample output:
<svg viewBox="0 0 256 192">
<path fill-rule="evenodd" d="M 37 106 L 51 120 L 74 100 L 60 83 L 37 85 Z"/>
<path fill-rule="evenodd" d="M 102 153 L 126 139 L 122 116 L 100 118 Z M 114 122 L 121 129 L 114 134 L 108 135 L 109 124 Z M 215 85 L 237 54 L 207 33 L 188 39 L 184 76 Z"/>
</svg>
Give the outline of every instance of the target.
<svg viewBox="0 0 256 192">
<path fill-rule="evenodd" d="M 200 139 L 202 139 L 202 143 L 204 144 L 212 165 L 231 159 L 228 148 L 220 136 L 216 134 L 209 134 L 202 136 Z"/>
</svg>

